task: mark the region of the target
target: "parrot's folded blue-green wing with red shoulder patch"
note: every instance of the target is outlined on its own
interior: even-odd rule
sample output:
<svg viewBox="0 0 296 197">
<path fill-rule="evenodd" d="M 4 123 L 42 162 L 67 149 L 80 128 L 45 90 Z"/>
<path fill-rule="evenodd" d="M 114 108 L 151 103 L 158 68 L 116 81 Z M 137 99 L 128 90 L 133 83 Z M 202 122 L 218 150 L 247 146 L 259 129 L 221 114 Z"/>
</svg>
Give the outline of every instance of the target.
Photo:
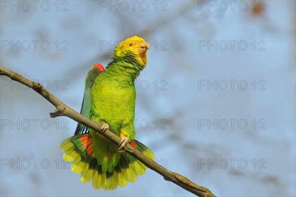
<svg viewBox="0 0 296 197">
<path fill-rule="evenodd" d="M 81 105 L 80 114 L 85 116 L 86 118 L 91 118 L 92 114 L 90 113 L 91 109 L 91 98 L 90 98 L 90 90 L 94 84 L 95 79 L 100 75 L 100 73 L 104 70 L 104 67 L 100 64 L 95 64 L 87 73 L 85 79 L 85 90 L 83 101 Z M 74 135 L 79 135 L 82 133 L 89 132 L 89 128 L 78 123 Z"/>
</svg>

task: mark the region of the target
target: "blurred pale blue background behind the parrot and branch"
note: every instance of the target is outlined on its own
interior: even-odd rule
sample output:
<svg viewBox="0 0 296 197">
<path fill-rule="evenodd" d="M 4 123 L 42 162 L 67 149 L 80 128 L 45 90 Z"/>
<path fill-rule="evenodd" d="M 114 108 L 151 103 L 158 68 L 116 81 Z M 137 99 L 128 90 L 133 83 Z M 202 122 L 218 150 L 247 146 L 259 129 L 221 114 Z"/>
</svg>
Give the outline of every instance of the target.
<svg viewBox="0 0 296 197">
<path fill-rule="evenodd" d="M 143 37 L 136 139 L 155 161 L 217 196 L 296 196 L 295 1 L 0 3 L 1 66 L 79 111 L 91 66 Z M 81 183 L 59 148 L 76 123 L 0 82 L 1 196 L 193 196 L 149 169 L 114 191 Z"/>
</svg>

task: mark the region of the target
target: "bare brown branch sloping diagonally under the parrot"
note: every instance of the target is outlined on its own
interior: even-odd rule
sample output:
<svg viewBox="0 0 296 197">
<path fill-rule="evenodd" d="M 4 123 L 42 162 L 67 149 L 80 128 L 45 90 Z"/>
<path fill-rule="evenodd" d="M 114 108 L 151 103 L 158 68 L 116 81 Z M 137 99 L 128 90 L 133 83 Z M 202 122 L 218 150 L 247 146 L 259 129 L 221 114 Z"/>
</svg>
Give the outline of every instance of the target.
<svg viewBox="0 0 296 197">
<path fill-rule="evenodd" d="M 44 97 L 44 99 L 48 100 L 51 104 L 56 107 L 56 110 L 50 113 L 50 117 L 58 117 L 58 116 L 66 116 L 71 118 L 72 120 L 81 123 L 94 131 L 98 131 L 108 139 L 110 139 L 116 145 L 120 142 L 120 137 L 114 134 L 112 131 L 107 130 L 102 132 L 102 125 L 91 121 L 90 119 L 84 117 L 83 115 L 79 114 L 78 112 L 74 111 L 72 108 L 61 102 L 59 99 L 55 98 L 52 94 L 50 94 L 47 90 L 43 88 L 39 83 L 29 81 L 28 79 L 22 77 L 16 72 L 10 71 L 2 66 L 0 66 L 0 75 L 6 75 L 10 77 L 14 81 L 18 81 L 29 88 L 35 90 L 39 95 Z M 178 174 L 176 172 L 172 172 L 167 170 L 166 168 L 162 167 L 161 165 L 157 164 L 153 160 L 149 159 L 147 156 L 143 155 L 140 151 L 136 150 L 130 144 L 127 144 L 124 147 L 124 150 L 135 157 L 137 160 L 145 164 L 150 169 L 154 170 L 158 174 L 162 175 L 166 181 L 171 181 L 176 185 L 179 185 L 183 189 L 191 192 L 194 195 L 199 197 L 216 197 L 211 193 L 211 191 L 207 188 L 202 186 L 198 186 L 186 177 Z"/>
</svg>

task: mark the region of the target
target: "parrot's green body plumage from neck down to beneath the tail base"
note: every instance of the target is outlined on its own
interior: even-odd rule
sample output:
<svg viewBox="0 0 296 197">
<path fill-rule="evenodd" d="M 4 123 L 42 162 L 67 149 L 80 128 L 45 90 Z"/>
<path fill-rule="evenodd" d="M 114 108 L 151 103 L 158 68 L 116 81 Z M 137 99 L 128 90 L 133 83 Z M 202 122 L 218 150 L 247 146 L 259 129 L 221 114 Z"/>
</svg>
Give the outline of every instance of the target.
<svg viewBox="0 0 296 197">
<path fill-rule="evenodd" d="M 129 57 L 129 56 L 127 56 Z M 91 120 L 107 123 L 117 135 L 126 132 L 129 141 L 135 138 L 135 100 L 134 80 L 140 71 L 131 69 L 130 63 L 115 59 L 94 81 L 90 91 Z M 130 69 L 130 72 L 122 70 Z M 134 72 L 132 72 L 134 70 Z M 112 172 L 117 165 L 120 153 L 116 146 L 105 137 L 90 130 L 94 140 L 94 153 L 103 172 Z"/>
</svg>

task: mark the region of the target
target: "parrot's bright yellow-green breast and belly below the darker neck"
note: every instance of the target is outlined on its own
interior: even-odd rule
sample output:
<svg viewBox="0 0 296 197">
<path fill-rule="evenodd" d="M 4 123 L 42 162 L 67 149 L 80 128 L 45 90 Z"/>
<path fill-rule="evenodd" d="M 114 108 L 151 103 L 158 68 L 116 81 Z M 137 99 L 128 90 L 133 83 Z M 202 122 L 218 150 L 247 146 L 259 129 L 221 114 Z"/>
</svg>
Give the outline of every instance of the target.
<svg viewBox="0 0 296 197">
<path fill-rule="evenodd" d="M 92 120 L 109 124 L 110 130 L 119 135 L 120 128 L 130 129 L 128 134 L 134 136 L 131 127 L 135 118 L 136 90 L 133 83 L 125 79 L 106 79 L 104 72 L 95 80 L 91 89 L 93 113 Z"/>
</svg>

